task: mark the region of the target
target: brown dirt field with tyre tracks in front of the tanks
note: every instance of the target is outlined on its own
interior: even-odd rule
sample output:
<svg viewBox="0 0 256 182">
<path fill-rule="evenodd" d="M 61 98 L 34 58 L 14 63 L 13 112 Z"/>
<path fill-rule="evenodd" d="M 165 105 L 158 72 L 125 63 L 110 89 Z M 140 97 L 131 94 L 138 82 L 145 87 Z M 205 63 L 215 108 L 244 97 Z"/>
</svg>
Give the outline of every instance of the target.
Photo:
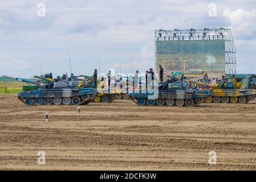
<svg viewBox="0 0 256 182">
<path fill-rule="evenodd" d="M 115 100 L 81 106 L 79 117 L 77 106 L 28 107 L 0 95 L 0 111 L 0 169 L 256 169 L 256 100 L 193 108 Z"/>
</svg>

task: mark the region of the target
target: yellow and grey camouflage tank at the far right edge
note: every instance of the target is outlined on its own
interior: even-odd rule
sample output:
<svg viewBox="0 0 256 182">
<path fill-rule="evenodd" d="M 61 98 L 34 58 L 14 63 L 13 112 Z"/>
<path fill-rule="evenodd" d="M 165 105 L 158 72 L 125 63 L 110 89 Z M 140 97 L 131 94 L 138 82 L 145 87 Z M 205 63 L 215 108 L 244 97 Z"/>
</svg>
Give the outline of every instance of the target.
<svg viewBox="0 0 256 182">
<path fill-rule="evenodd" d="M 255 99 L 256 90 L 242 88 L 241 82 L 222 81 L 216 84 L 205 84 L 198 81 L 189 81 L 199 85 L 200 89 L 209 90 L 210 96 L 205 102 L 247 104 Z"/>
</svg>

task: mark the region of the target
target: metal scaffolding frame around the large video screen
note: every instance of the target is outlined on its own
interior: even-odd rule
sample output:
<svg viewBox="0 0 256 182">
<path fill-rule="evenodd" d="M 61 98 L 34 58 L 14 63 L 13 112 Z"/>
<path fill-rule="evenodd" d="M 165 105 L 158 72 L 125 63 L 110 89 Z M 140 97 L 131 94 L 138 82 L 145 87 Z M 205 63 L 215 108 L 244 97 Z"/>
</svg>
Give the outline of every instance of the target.
<svg viewBox="0 0 256 182">
<path fill-rule="evenodd" d="M 229 28 L 196 30 L 155 30 L 155 67 L 156 67 L 156 42 L 180 40 L 225 40 L 225 73 L 234 75 L 236 71 L 236 50 L 233 36 Z"/>
</svg>

